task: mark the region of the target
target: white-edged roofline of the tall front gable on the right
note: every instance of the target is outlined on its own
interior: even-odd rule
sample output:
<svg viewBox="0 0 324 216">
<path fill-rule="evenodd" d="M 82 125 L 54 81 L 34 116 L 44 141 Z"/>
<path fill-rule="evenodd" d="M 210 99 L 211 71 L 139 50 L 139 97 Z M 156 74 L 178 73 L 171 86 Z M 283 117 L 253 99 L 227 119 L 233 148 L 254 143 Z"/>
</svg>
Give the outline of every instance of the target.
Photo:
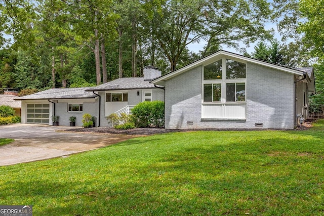
<svg viewBox="0 0 324 216">
<path fill-rule="evenodd" d="M 297 74 L 297 75 L 303 75 L 303 71 L 300 71 L 300 70 L 297 70 L 297 69 L 293 69 L 293 68 L 289 68 L 289 67 L 285 67 L 285 66 L 280 66 L 280 65 L 277 65 L 277 64 L 273 64 L 273 63 L 269 63 L 269 62 L 265 62 L 265 61 L 262 61 L 262 60 L 259 60 L 259 59 L 254 59 L 254 58 L 251 58 L 251 57 L 246 57 L 246 56 L 243 56 L 243 55 L 239 55 L 239 54 L 235 54 L 235 53 L 231 53 L 231 52 L 228 52 L 228 51 L 224 51 L 224 50 L 219 50 L 217 51 L 216 53 L 213 53 L 209 56 L 206 56 L 204 58 L 201 58 L 195 62 L 192 62 L 182 68 L 179 68 L 173 72 L 170 72 L 170 73 L 167 73 L 163 76 L 160 76 L 160 77 L 157 77 L 155 79 L 152 79 L 151 80 L 151 83 L 153 84 L 159 84 L 159 85 L 164 85 L 165 81 L 168 80 L 168 79 L 171 79 L 172 77 L 175 77 L 183 72 L 186 72 L 192 68 L 195 68 L 199 65 L 205 65 L 207 63 L 212 63 L 214 62 L 214 60 L 216 58 L 222 58 L 223 56 L 226 56 L 226 57 L 230 57 L 232 58 L 233 60 L 235 59 L 238 59 L 238 60 L 241 60 L 241 61 L 246 61 L 246 62 L 251 62 L 251 63 L 255 63 L 255 64 L 258 64 L 258 65 L 263 65 L 265 67 L 269 67 L 269 68 L 272 68 L 272 69 L 276 69 L 276 70 L 280 70 L 280 71 L 284 71 L 284 72 L 287 72 L 287 73 L 293 73 L 293 74 Z"/>
</svg>

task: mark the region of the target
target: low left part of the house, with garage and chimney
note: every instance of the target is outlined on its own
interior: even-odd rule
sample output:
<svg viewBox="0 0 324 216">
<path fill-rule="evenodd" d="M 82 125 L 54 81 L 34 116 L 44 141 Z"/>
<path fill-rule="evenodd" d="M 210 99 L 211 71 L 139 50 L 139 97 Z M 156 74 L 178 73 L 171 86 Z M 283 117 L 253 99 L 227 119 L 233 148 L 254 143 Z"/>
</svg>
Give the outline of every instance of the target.
<svg viewBox="0 0 324 216">
<path fill-rule="evenodd" d="M 94 88 L 50 89 L 17 98 L 22 101 L 22 123 L 53 125 L 51 116 L 58 115 L 59 125 L 69 125 L 69 117 L 76 117 L 82 126 L 82 115 L 96 117 L 96 126 L 111 126 L 106 117 L 111 113 L 131 113 L 142 101 L 164 101 L 164 89 L 149 83 L 161 76 L 154 67 L 146 67 L 144 77 L 119 78 Z M 99 117 L 100 116 L 100 117 Z"/>
</svg>

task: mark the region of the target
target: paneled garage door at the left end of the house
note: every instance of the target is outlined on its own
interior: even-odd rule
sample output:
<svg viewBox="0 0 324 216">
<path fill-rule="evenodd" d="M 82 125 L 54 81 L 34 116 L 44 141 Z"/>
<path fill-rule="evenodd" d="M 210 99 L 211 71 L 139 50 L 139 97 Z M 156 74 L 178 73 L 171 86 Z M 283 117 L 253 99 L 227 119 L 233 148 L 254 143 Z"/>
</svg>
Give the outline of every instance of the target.
<svg viewBox="0 0 324 216">
<path fill-rule="evenodd" d="M 48 124 L 50 104 L 27 104 L 27 123 Z"/>
</svg>

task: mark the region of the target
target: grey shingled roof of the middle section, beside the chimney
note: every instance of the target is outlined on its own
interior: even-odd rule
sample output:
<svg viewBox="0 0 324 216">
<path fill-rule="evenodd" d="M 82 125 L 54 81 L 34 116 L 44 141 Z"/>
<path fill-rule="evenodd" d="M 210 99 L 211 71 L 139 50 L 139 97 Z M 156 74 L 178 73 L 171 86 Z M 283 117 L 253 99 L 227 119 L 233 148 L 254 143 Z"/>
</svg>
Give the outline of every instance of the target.
<svg viewBox="0 0 324 216">
<path fill-rule="evenodd" d="M 131 89 L 155 89 L 154 84 L 145 81 L 144 77 L 118 78 L 103 83 L 97 87 L 89 88 L 86 91 L 109 91 L 109 90 L 131 90 Z"/>
</svg>

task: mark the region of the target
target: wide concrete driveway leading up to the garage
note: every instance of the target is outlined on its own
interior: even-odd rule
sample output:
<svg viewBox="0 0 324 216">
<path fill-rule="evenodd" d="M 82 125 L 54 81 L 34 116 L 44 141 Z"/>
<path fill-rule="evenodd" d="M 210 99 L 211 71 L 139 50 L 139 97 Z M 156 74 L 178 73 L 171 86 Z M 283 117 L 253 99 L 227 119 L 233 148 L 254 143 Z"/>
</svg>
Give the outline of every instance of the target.
<svg viewBox="0 0 324 216">
<path fill-rule="evenodd" d="M 70 128 L 35 124 L 1 125 L 0 138 L 11 138 L 15 141 L 0 146 L 0 166 L 89 151 L 138 137 L 64 132 Z"/>
</svg>

